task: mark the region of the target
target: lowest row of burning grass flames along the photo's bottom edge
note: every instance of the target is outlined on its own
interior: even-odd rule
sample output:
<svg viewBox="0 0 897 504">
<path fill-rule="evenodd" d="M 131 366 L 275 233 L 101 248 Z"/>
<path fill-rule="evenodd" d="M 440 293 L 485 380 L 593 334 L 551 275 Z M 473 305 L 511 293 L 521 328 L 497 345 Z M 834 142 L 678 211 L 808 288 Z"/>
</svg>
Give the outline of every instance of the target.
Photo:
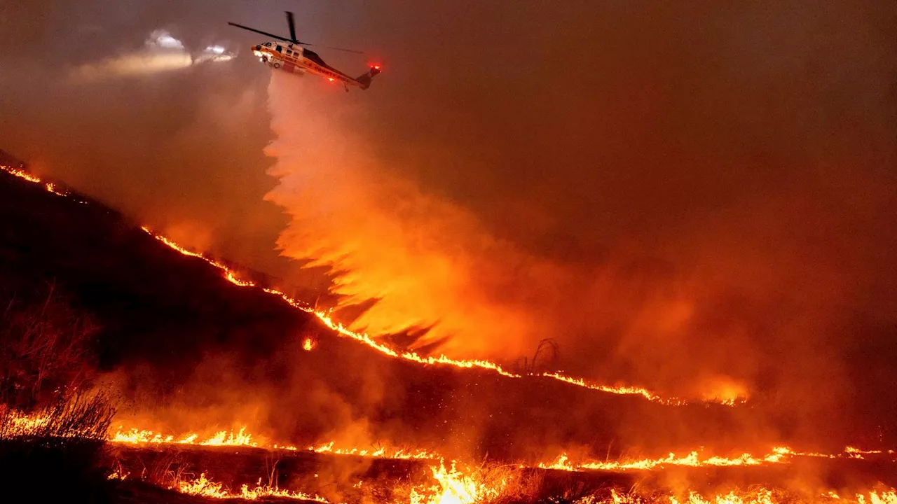
<svg viewBox="0 0 897 504">
<path fill-rule="evenodd" d="M 382 504 L 897 504 L 893 488 L 834 491 L 823 487 L 793 489 L 786 486 L 722 486 L 701 491 L 672 490 L 646 482 L 627 484 L 613 478 L 550 481 L 544 471 L 513 465 L 464 465 L 439 461 L 419 470 L 409 468 L 402 477 L 361 477 L 353 482 L 329 482 L 317 490 L 291 490 L 277 485 L 276 477 L 254 485 L 230 487 L 205 473 L 181 475 L 165 486 L 189 495 L 213 499 L 291 499 L 318 502 Z M 425 473 L 425 474 L 424 474 Z M 274 474 L 272 472 L 272 474 Z M 238 489 L 238 490 L 231 490 Z"/>
</svg>

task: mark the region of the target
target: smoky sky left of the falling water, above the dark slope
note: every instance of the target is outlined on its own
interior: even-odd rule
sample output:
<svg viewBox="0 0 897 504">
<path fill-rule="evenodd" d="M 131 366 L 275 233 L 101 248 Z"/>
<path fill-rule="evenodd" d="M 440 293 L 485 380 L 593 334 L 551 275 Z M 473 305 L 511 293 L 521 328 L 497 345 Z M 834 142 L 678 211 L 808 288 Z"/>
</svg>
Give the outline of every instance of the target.
<svg viewBox="0 0 897 504">
<path fill-rule="evenodd" d="M 254 18 L 238 11 L 105 0 L 4 6 L 2 148 L 189 247 L 288 271 L 273 252 L 283 217 L 260 204 L 272 187 L 261 153 L 267 74 L 240 57 L 249 41 L 226 22 Z"/>
</svg>

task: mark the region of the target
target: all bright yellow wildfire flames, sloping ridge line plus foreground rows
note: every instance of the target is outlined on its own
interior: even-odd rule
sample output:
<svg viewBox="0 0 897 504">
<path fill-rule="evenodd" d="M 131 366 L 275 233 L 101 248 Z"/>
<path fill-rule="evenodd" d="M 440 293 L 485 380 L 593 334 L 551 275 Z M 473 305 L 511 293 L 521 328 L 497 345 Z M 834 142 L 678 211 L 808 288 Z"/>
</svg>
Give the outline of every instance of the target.
<svg viewBox="0 0 897 504">
<path fill-rule="evenodd" d="M 64 189 L 57 187 L 52 182 L 44 182 L 40 178 L 26 172 L 24 169 L 13 166 L 0 165 L 0 169 L 17 178 L 22 178 L 30 183 L 40 185 L 49 193 L 56 196 L 70 196 Z M 78 201 L 78 200 L 75 200 Z M 84 203 L 78 201 L 78 203 Z M 230 267 L 222 264 L 203 254 L 192 252 L 186 248 L 182 248 L 174 241 L 155 234 L 152 230 L 144 227 L 143 230 L 150 234 L 153 238 L 160 240 L 168 247 L 178 251 L 185 256 L 192 256 L 204 260 L 207 264 L 222 271 L 222 276 L 228 281 L 239 287 L 255 287 L 256 283 L 242 280 Z M 308 305 L 294 300 L 287 296 L 283 291 L 265 288 L 264 291 L 281 298 L 294 308 L 301 309 L 309 314 L 318 317 L 321 323 L 337 334 L 352 338 L 353 340 L 366 344 L 370 348 L 388 355 L 393 358 L 403 359 L 405 361 L 413 361 L 422 365 L 449 365 L 461 369 L 483 369 L 498 373 L 506 378 L 552 378 L 570 384 L 575 387 L 583 387 L 591 390 L 597 390 L 605 393 L 617 395 L 640 395 L 641 397 L 667 405 L 681 405 L 686 401 L 676 397 L 662 397 L 644 387 L 633 387 L 628 385 L 607 386 L 602 384 L 589 383 L 583 378 L 572 378 L 563 375 L 560 372 L 544 372 L 541 374 L 521 375 L 503 369 L 501 365 L 492 361 L 483 360 L 457 360 L 449 358 L 445 355 L 439 357 L 421 356 L 416 352 L 399 352 L 382 343 L 375 341 L 367 334 L 356 333 L 346 328 L 342 324 L 335 322 L 329 312 L 311 308 Z M 311 351 L 316 347 L 316 342 L 312 338 L 306 338 L 302 343 L 302 348 Z M 744 391 L 725 391 L 727 394 L 719 394 L 715 397 L 705 396 L 705 402 L 717 404 L 735 405 L 745 401 Z M 47 424 L 48 418 L 39 415 L 25 415 L 11 410 L 0 412 L 0 434 L 6 438 L 25 437 L 38 432 Z M 65 436 L 65 434 L 61 434 Z M 109 437 L 110 442 L 127 443 L 127 444 L 181 444 L 196 446 L 214 446 L 214 447 L 251 447 L 251 448 L 268 448 L 283 449 L 296 451 L 299 448 L 293 446 L 283 446 L 277 444 L 266 444 L 264 441 L 254 439 L 248 433 L 246 427 L 242 427 L 237 431 L 220 430 L 211 436 L 201 437 L 196 433 L 187 433 L 179 437 L 173 435 L 163 435 L 152 430 L 119 430 Z M 318 445 L 312 445 L 309 451 L 318 454 L 333 454 L 345 456 L 368 456 L 381 457 L 391 459 L 427 459 L 439 460 L 439 465 L 431 465 L 430 471 L 432 482 L 425 483 L 411 489 L 409 494 L 410 504 L 473 504 L 475 502 L 483 502 L 497 500 L 514 483 L 514 479 L 518 474 L 513 474 L 507 467 L 502 469 L 498 475 L 485 478 L 480 471 L 457 469 L 456 463 L 452 462 L 448 468 L 443 459 L 435 453 L 423 449 L 403 449 L 403 448 L 335 448 L 335 442 L 330 441 Z M 663 468 L 668 465 L 677 466 L 753 466 L 768 464 L 787 464 L 796 456 L 812 456 L 823 458 L 850 458 L 862 459 L 872 455 L 893 455 L 893 450 L 867 450 L 856 447 L 847 447 L 841 453 L 825 454 L 818 452 L 798 452 L 788 447 L 772 448 L 770 453 L 762 456 L 753 456 L 744 453 L 741 456 L 725 457 L 725 456 L 701 456 L 699 451 L 692 451 L 684 456 L 677 456 L 670 453 L 668 456 L 659 458 L 630 459 L 620 461 L 585 461 L 574 464 L 566 453 L 558 456 L 552 463 L 539 463 L 537 467 L 542 469 L 555 469 L 563 471 L 584 471 L 584 470 L 602 470 L 602 471 L 649 471 Z M 527 465 L 519 465 L 521 468 Z M 109 479 L 124 481 L 128 474 L 118 471 L 109 474 Z M 357 486 L 361 486 L 358 482 Z M 312 495 L 301 491 L 282 490 L 276 485 L 263 485 L 261 479 L 258 480 L 255 487 L 247 484 L 242 485 L 239 491 L 231 491 L 224 486 L 222 482 L 213 482 L 205 476 L 205 473 L 194 480 L 182 480 L 173 485 L 173 489 L 189 495 L 203 496 L 215 499 L 243 499 L 243 500 L 262 500 L 267 498 L 281 498 L 292 500 L 314 500 L 321 503 L 328 501 L 318 495 Z M 865 491 L 863 493 L 855 493 L 854 497 L 841 497 L 834 491 L 828 491 L 821 494 L 823 500 L 831 502 L 832 500 L 845 501 L 856 504 L 897 504 L 897 491 L 894 489 L 884 491 Z M 687 494 L 667 495 L 663 500 L 668 504 L 785 504 L 793 502 L 791 498 L 783 499 L 776 492 L 765 488 L 756 489 L 746 492 L 728 491 L 727 493 L 718 493 L 705 497 L 698 492 L 689 491 Z M 657 496 L 650 499 L 640 497 L 635 493 L 618 493 L 610 491 L 609 495 L 589 495 L 579 500 L 579 504 L 646 504 L 649 502 L 659 501 Z"/>
</svg>

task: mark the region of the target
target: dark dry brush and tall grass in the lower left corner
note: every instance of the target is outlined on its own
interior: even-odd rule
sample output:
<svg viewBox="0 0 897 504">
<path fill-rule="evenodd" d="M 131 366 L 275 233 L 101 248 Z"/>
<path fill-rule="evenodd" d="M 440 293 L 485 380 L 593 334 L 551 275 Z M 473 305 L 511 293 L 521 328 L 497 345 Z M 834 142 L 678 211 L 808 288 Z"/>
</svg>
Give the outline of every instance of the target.
<svg viewBox="0 0 897 504">
<path fill-rule="evenodd" d="M 0 485 L 34 501 L 109 500 L 112 398 L 87 392 L 93 327 L 49 285 L 0 291 Z"/>
</svg>

